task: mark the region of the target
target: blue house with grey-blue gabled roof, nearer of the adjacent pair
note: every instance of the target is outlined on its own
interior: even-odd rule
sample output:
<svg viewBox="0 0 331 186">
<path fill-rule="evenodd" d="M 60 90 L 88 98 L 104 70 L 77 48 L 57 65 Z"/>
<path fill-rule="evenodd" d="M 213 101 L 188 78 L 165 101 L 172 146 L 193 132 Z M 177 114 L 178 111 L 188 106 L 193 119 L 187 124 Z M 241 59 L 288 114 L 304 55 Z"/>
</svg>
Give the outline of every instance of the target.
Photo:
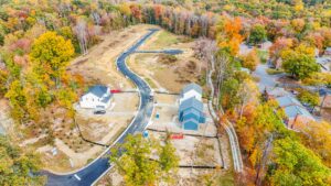
<svg viewBox="0 0 331 186">
<path fill-rule="evenodd" d="M 179 108 L 179 121 L 185 130 L 197 130 L 199 124 L 205 122 L 203 103 L 195 97 L 183 100 Z"/>
</svg>

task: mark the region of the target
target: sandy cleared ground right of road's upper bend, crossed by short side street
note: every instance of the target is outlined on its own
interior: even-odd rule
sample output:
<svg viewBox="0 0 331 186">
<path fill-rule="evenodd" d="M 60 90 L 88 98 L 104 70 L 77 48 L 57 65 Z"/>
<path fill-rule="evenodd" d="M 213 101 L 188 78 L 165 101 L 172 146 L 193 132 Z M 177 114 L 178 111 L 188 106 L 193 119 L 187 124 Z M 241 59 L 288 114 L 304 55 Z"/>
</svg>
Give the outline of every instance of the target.
<svg viewBox="0 0 331 186">
<path fill-rule="evenodd" d="M 167 64 L 162 59 L 163 54 L 134 54 L 128 65 L 137 74 L 147 78 L 152 88 L 179 92 L 185 84 L 197 81 L 203 68 L 203 64 L 194 57 L 193 46 L 194 42 L 161 30 L 140 50 L 182 50 L 182 54 L 175 55 L 177 61 Z"/>
</svg>

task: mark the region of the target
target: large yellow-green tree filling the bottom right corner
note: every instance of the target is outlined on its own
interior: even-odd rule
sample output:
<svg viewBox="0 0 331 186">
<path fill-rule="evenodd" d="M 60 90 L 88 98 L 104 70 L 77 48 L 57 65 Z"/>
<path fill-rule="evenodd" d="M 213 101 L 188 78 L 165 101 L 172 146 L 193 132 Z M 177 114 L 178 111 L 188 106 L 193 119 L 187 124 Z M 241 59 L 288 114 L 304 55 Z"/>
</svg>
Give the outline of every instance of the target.
<svg viewBox="0 0 331 186">
<path fill-rule="evenodd" d="M 274 143 L 275 164 L 269 167 L 273 185 L 330 185 L 330 169 L 312 151 L 290 138 Z"/>
</svg>

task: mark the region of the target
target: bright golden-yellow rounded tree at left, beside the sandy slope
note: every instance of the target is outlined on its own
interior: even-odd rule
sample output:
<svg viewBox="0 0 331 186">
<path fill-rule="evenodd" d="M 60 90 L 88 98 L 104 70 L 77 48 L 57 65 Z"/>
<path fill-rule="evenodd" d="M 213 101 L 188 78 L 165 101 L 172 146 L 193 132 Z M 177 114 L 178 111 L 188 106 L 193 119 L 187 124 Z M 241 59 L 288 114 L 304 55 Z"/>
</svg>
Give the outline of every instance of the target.
<svg viewBox="0 0 331 186">
<path fill-rule="evenodd" d="M 71 41 L 55 32 L 46 32 L 36 39 L 30 53 L 31 61 L 38 72 L 50 75 L 56 87 L 60 86 L 61 76 L 74 55 Z"/>
</svg>

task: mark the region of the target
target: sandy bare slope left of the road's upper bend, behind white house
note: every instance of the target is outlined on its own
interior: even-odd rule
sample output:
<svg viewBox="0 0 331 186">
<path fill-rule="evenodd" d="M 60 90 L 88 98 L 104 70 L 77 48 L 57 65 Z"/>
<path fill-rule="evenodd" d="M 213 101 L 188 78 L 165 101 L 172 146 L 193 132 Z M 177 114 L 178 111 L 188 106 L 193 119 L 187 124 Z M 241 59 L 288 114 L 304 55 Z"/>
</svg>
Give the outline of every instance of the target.
<svg viewBox="0 0 331 186">
<path fill-rule="evenodd" d="M 134 25 L 114 31 L 102 37 L 103 42 L 89 50 L 85 56 L 75 58 L 68 67 L 81 74 L 88 84 L 105 84 L 115 88 L 132 88 L 134 85 L 116 69 L 115 59 L 137 42 L 152 25 Z"/>
</svg>

